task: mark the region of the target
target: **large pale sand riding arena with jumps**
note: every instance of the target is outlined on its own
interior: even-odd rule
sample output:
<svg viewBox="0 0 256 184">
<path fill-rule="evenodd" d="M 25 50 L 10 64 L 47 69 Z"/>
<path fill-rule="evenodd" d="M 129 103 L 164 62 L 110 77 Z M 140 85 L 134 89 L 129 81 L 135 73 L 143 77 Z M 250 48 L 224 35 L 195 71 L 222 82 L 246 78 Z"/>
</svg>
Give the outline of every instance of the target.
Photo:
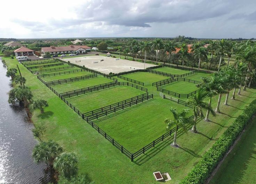
<svg viewBox="0 0 256 184">
<path fill-rule="evenodd" d="M 63 58 L 64 61 L 70 61 L 71 63 L 78 65 L 85 65 L 85 67 L 93 70 L 97 70 L 99 72 L 109 74 L 112 73 L 120 73 L 131 70 L 144 69 L 144 63 L 137 61 L 129 61 L 119 58 L 112 58 L 101 55 L 93 55 L 93 56 L 80 56 L 75 58 Z M 104 60 L 104 61 L 101 61 Z M 145 63 L 145 68 L 153 67 L 154 64 Z"/>
</svg>

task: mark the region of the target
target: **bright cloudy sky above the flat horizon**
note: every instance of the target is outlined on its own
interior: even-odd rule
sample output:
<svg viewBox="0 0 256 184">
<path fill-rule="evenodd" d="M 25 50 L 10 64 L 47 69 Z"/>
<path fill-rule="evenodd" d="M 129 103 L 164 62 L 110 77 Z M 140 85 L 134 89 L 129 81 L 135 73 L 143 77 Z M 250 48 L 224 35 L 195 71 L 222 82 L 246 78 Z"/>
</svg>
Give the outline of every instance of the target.
<svg viewBox="0 0 256 184">
<path fill-rule="evenodd" d="M 0 37 L 256 37 L 256 0 L 3 0 Z"/>
</svg>

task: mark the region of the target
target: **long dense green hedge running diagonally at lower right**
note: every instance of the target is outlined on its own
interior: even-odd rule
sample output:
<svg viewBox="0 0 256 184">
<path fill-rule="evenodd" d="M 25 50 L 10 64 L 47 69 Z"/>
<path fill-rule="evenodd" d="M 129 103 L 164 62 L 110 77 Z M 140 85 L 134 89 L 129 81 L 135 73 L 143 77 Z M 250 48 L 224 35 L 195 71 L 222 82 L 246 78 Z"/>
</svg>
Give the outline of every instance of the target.
<svg viewBox="0 0 256 184">
<path fill-rule="evenodd" d="M 180 182 L 181 184 L 198 184 L 205 183 L 216 168 L 219 161 L 222 160 L 229 148 L 233 145 L 235 139 L 243 131 L 245 126 L 256 113 L 256 100 L 237 117 L 229 128 L 221 135 L 221 137 L 213 144 L 213 146 L 203 155 L 202 159 L 191 170 L 191 172 Z"/>
</svg>

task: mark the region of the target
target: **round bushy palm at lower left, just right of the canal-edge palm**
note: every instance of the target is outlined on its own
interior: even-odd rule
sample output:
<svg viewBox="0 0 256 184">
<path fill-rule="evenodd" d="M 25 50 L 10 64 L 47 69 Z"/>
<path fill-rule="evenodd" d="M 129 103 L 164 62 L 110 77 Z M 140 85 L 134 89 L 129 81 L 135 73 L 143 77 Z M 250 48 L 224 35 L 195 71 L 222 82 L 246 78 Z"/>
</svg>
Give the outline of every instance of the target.
<svg viewBox="0 0 256 184">
<path fill-rule="evenodd" d="M 64 152 L 56 157 L 53 167 L 66 178 L 70 178 L 77 174 L 78 159 L 75 153 Z"/>
</svg>

